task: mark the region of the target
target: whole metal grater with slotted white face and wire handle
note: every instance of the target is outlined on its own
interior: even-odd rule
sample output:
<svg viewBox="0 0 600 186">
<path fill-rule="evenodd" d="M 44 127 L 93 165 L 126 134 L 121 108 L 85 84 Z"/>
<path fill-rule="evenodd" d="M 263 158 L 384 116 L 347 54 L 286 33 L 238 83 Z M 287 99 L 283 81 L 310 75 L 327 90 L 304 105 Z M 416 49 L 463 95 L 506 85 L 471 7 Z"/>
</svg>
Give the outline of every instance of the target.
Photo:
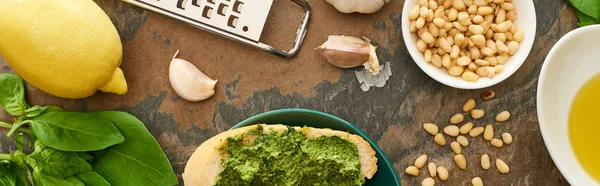
<svg viewBox="0 0 600 186">
<path fill-rule="evenodd" d="M 298 53 L 311 13 L 305 0 L 291 0 L 304 8 L 304 16 L 296 32 L 294 46 L 285 51 L 259 41 L 273 0 L 122 1 L 285 58 L 292 58 Z"/>
</svg>

